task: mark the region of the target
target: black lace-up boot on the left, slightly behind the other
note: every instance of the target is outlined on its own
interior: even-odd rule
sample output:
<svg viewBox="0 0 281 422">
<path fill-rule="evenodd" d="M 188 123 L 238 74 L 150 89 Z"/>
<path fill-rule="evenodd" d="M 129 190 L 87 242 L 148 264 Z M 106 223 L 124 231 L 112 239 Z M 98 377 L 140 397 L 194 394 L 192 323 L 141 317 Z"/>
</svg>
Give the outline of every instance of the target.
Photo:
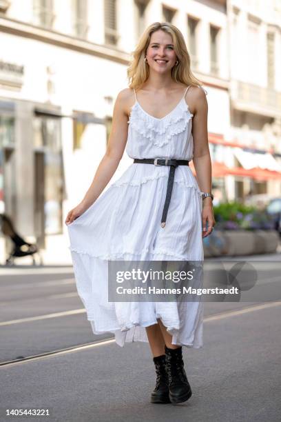
<svg viewBox="0 0 281 422">
<path fill-rule="evenodd" d="M 166 373 L 166 356 L 156 356 L 153 358 L 156 369 L 156 387 L 152 392 L 151 403 L 171 403 L 169 399 L 169 386 Z"/>
</svg>

